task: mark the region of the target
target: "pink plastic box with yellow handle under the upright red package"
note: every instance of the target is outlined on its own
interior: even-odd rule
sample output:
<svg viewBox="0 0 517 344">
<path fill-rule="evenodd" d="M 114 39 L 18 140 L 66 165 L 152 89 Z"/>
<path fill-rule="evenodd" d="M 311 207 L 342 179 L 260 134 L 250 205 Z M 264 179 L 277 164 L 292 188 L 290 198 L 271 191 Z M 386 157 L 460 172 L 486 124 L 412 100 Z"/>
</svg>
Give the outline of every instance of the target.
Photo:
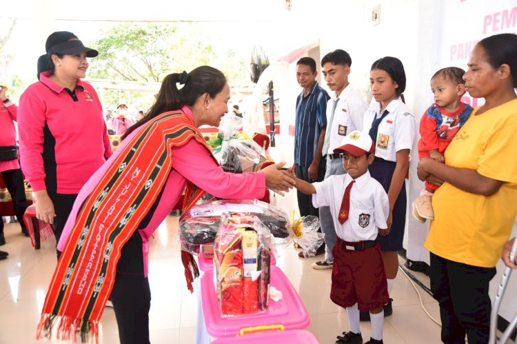
<svg viewBox="0 0 517 344">
<path fill-rule="evenodd" d="M 271 283 L 282 292 L 278 302 L 270 300 L 269 307 L 263 313 L 221 317 L 219 302 L 214 287 L 214 271 L 206 271 L 201 278 L 201 306 L 208 334 L 212 338 L 239 335 L 241 329 L 259 325 L 283 325 L 285 330 L 302 330 L 310 323 L 300 296 L 287 276 L 276 266 L 271 266 Z"/>
</svg>

